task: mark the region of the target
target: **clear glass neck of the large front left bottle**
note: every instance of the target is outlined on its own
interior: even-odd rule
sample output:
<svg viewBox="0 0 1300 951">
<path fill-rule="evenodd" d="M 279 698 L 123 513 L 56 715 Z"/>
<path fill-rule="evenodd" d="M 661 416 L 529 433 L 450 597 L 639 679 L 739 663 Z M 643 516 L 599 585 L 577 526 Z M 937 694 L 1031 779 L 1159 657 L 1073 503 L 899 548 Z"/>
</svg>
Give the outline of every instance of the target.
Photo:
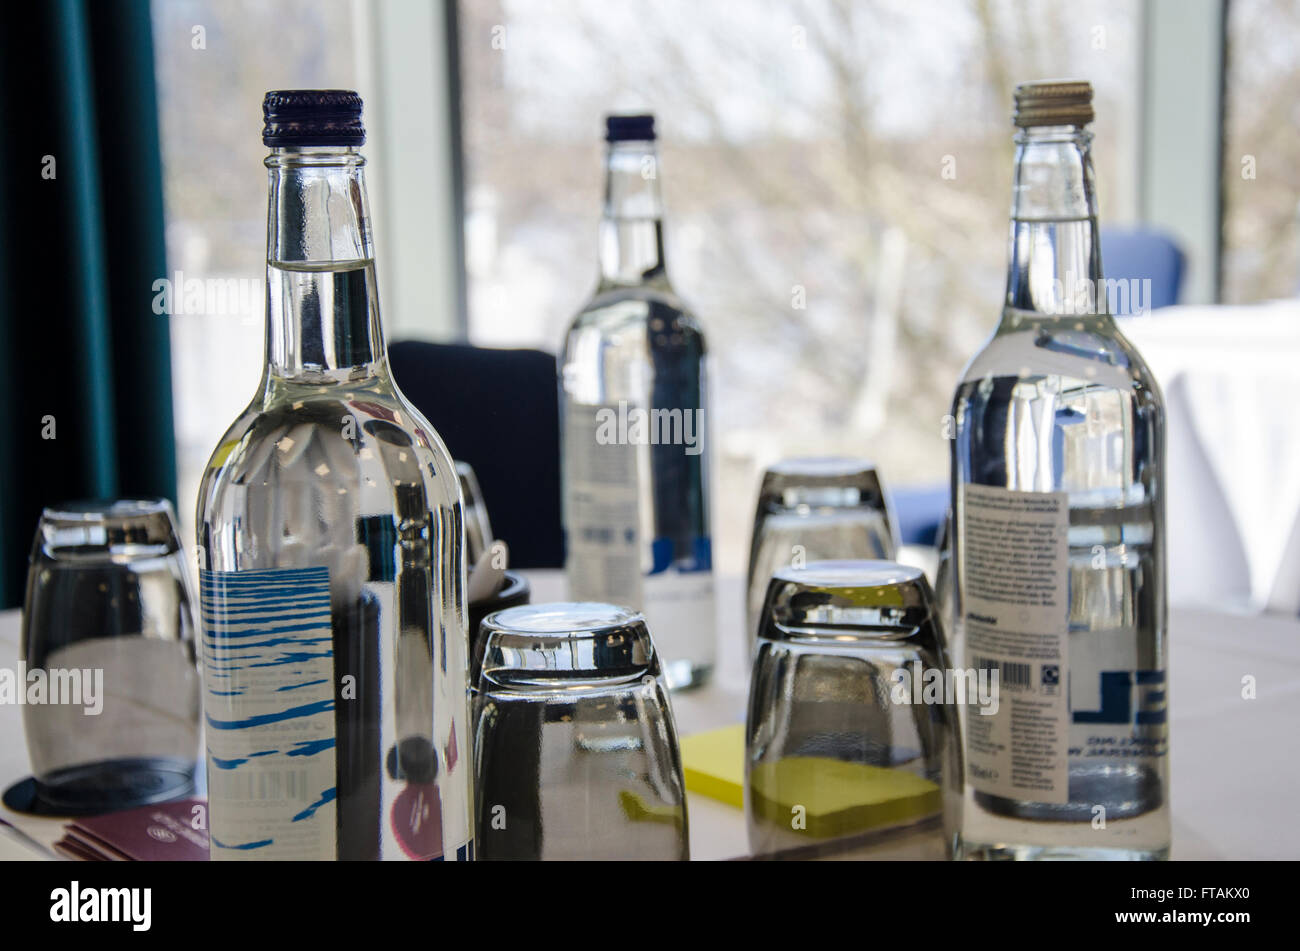
<svg viewBox="0 0 1300 951">
<path fill-rule="evenodd" d="M 265 164 L 268 378 L 384 373 L 365 160 L 344 147 L 274 148 Z"/>
</svg>

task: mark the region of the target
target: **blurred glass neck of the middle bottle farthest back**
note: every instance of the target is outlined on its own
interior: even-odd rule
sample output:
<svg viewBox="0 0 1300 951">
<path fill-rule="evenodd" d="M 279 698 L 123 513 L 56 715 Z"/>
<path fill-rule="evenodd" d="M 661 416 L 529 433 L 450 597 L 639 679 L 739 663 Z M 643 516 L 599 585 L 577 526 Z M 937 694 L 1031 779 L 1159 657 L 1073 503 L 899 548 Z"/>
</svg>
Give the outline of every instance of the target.
<svg viewBox="0 0 1300 951">
<path fill-rule="evenodd" d="M 601 288 L 667 285 L 663 201 L 653 142 L 612 142 L 604 160 Z"/>
</svg>

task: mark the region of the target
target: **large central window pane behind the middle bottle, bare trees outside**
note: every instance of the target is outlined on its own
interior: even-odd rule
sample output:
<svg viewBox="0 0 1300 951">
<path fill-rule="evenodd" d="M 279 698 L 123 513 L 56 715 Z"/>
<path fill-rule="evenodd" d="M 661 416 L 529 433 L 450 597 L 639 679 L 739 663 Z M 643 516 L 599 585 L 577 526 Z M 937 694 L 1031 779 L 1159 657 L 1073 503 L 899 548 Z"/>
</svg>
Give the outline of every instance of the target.
<svg viewBox="0 0 1300 951">
<path fill-rule="evenodd" d="M 1001 308 L 1017 82 L 1093 82 L 1104 221 L 1134 213 L 1135 4 L 459 9 L 472 342 L 560 344 L 594 287 L 601 118 L 658 116 L 668 270 L 715 360 L 728 573 L 780 456 L 946 482 L 942 417 Z"/>
</svg>

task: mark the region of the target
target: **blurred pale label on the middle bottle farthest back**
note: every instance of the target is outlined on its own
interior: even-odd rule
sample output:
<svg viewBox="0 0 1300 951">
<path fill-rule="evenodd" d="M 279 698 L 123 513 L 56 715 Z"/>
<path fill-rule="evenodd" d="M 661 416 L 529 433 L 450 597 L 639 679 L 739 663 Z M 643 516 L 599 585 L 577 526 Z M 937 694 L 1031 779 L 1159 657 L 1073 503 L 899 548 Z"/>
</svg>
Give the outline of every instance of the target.
<svg viewBox="0 0 1300 951">
<path fill-rule="evenodd" d="M 569 598 L 640 611 L 641 492 L 637 452 L 608 438 L 619 407 L 567 401 L 564 412 L 564 527 Z M 616 437 L 616 434 L 615 434 Z"/>
</svg>

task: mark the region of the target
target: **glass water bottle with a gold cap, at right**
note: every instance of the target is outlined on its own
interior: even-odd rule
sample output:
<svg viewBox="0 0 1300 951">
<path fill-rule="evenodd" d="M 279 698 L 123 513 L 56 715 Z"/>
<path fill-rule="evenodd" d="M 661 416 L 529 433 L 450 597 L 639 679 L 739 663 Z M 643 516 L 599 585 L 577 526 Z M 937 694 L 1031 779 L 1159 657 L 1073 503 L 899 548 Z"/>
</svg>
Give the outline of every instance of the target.
<svg viewBox="0 0 1300 951">
<path fill-rule="evenodd" d="M 967 857 L 1169 855 L 1165 411 L 1102 278 L 1084 82 L 1015 94 L 1006 305 L 953 405 Z"/>
</svg>

